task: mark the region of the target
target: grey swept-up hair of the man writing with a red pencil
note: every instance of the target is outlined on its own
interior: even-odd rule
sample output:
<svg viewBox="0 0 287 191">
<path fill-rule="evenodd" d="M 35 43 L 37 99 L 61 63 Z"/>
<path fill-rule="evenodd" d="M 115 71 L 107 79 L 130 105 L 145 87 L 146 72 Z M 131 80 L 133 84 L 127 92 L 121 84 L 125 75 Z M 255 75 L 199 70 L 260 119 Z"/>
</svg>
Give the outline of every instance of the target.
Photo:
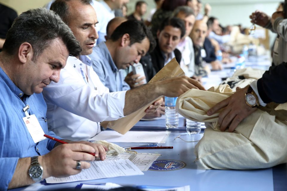
<svg viewBox="0 0 287 191">
<path fill-rule="evenodd" d="M 16 54 L 19 46 L 30 43 L 33 48 L 33 61 L 47 48 L 51 41 L 60 38 L 70 56 L 79 56 L 82 48 L 71 29 L 53 11 L 36 8 L 20 14 L 6 35 L 2 51 Z"/>
</svg>

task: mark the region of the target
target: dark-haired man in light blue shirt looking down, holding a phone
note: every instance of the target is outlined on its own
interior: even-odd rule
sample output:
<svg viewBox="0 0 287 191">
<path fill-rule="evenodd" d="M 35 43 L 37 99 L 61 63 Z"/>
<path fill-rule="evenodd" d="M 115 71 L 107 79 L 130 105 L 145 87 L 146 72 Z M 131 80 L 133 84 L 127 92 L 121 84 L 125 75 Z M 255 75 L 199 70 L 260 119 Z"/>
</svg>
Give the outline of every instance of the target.
<svg viewBox="0 0 287 191">
<path fill-rule="evenodd" d="M 138 63 L 154 46 L 155 40 L 144 23 L 128 20 L 115 29 L 109 40 L 93 49 L 94 53 L 90 55 L 93 69 L 110 92 L 129 90 L 123 69 Z M 131 48 L 135 51 L 130 51 Z"/>
</svg>

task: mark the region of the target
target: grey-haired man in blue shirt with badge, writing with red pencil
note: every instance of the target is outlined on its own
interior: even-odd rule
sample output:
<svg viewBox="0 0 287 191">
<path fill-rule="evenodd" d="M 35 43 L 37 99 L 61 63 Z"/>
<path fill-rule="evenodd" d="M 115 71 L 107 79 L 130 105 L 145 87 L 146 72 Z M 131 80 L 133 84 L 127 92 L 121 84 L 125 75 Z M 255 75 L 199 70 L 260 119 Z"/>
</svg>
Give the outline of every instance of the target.
<svg viewBox="0 0 287 191">
<path fill-rule="evenodd" d="M 84 161 L 95 160 L 82 151 L 105 159 L 102 145 L 59 145 L 43 136 L 61 139 L 48 131 L 41 92 L 51 81 L 59 81 L 69 54 L 77 56 L 80 51 L 70 28 L 45 8 L 22 13 L 8 31 L 0 53 L 0 190 L 75 175 L 89 168 Z"/>
</svg>

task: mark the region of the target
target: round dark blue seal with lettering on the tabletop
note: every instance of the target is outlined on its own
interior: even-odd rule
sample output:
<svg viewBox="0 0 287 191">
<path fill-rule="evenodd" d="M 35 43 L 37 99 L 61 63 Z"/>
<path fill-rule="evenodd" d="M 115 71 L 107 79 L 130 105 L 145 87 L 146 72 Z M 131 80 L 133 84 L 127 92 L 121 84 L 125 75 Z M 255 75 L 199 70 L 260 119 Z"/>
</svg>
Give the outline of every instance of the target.
<svg viewBox="0 0 287 191">
<path fill-rule="evenodd" d="M 149 167 L 149 170 L 156 171 L 168 171 L 168 170 L 178 170 L 186 166 L 186 163 L 179 160 L 156 160 L 152 163 L 152 166 Z"/>
</svg>

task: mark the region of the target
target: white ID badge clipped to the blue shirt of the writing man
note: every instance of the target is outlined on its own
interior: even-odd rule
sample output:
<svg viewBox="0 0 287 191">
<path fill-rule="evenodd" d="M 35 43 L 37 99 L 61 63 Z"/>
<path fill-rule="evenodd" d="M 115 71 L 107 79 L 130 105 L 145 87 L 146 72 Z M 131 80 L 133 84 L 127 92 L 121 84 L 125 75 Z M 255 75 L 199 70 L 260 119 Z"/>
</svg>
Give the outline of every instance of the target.
<svg viewBox="0 0 287 191">
<path fill-rule="evenodd" d="M 46 139 L 46 137 L 44 137 L 45 133 L 44 133 L 38 119 L 36 118 L 35 114 L 30 115 L 28 117 L 23 117 L 22 119 L 23 119 L 34 143 L 38 143 L 39 141 Z"/>
</svg>

